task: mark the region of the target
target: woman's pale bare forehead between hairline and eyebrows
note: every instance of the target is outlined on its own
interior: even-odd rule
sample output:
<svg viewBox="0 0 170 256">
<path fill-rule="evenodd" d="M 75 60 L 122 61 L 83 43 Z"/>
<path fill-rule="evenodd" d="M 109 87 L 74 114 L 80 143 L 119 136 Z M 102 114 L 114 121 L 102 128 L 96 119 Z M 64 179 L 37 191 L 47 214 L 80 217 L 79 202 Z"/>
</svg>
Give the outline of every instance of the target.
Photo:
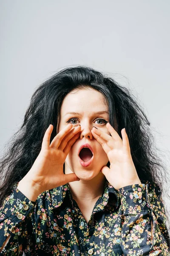
<svg viewBox="0 0 170 256">
<path fill-rule="evenodd" d="M 108 105 L 102 93 L 97 90 L 92 88 L 74 90 L 65 96 L 61 114 L 79 111 L 108 111 Z"/>
</svg>

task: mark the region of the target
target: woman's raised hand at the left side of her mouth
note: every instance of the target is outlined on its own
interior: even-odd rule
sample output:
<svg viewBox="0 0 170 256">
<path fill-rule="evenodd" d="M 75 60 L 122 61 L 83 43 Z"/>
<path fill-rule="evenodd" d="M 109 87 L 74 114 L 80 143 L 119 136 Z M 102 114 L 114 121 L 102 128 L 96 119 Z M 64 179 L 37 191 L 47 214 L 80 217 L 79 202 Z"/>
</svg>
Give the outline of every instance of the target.
<svg viewBox="0 0 170 256">
<path fill-rule="evenodd" d="M 80 125 L 74 128 L 72 128 L 72 126 L 73 125 L 69 123 L 64 129 L 59 131 L 50 144 L 53 125 L 49 125 L 42 140 L 40 154 L 36 158 L 29 172 L 22 180 L 20 180 L 17 186 L 24 195 L 28 192 L 24 193 L 23 190 L 28 191 L 33 189 L 36 196 L 34 197 L 33 194 L 31 194 L 32 196 L 30 195 L 30 198 L 36 200 L 37 196 L 45 190 L 53 189 L 68 182 L 80 180 L 74 173 L 64 174 L 63 172 L 65 158 L 67 157 L 71 146 L 78 139 L 80 135 L 79 132 L 81 131 Z M 26 186 L 29 186 L 29 189 L 24 189 Z M 28 197 L 28 194 L 26 196 Z"/>
</svg>

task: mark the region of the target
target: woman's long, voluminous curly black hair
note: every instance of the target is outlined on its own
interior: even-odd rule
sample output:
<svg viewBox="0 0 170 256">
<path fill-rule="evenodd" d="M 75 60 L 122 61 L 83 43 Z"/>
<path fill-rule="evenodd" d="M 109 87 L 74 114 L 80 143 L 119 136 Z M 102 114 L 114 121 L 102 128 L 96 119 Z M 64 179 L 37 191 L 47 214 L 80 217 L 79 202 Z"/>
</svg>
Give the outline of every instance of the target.
<svg viewBox="0 0 170 256">
<path fill-rule="evenodd" d="M 76 88 L 87 86 L 104 95 L 108 102 L 109 122 L 121 138 L 121 130 L 126 128 L 139 179 L 156 183 L 161 191 L 168 195 L 163 187 L 163 184 L 169 183 L 167 169 L 159 157 L 149 127 L 150 122 L 135 96 L 106 74 L 91 67 L 77 66 L 62 69 L 51 76 L 31 97 L 23 124 L 6 143 L 7 148 L 0 159 L 0 206 L 11 194 L 14 184 L 31 169 L 40 153 L 43 136 L 50 124 L 54 126 L 51 141 L 56 136 L 57 122 L 65 96 Z M 170 227 L 168 215 L 167 227 Z"/>
</svg>

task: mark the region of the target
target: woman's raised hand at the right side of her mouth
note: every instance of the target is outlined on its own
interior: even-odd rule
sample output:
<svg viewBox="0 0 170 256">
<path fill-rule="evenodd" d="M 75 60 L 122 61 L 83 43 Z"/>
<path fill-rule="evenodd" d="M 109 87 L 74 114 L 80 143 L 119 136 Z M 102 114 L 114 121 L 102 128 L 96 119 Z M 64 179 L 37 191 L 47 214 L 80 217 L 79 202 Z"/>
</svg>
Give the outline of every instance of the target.
<svg viewBox="0 0 170 256">
<path fill-rule="evenodd" d="M 108 155 L 111 164 L 110 168 L 103 166 L 101 172 L 115 189 L 141 184 L 130 154 L 130 145 L 125 128 L 121 131 L 122 139 L 110 123 L 106 124 L 106 128 L 111 135 L 96 128 L 91 130 L 94 138 L 102 145 Z"/>
</svg>

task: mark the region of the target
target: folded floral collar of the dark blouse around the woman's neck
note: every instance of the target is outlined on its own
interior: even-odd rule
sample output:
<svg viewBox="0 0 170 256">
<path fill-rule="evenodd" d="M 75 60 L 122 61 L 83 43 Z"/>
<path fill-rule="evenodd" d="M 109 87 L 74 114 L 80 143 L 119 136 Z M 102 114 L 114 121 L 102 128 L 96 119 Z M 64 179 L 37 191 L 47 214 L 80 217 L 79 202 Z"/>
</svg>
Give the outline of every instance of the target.
<svg viewBox="0 0 170 256">
<path fill-rule="evenodd" d="M 69 195 L 72 202 L 73 198 L 72 198 L 71 189 L 68 183 L 66 183 L 65 185 L 56 187 L 54 189 L 47 190 L 46 196 L 48 198 L 48 201 L 50 201 L 50 208 L 55 209 L 60 207 L 67 194 Z M 108 204 L 108 201 L 111 204 L 114 204 L 114 206 L 117 208 L 119 206 L 119 200 L 120 198 L 119 198 L 118 190 L 114 189 L 114 187 L 106 179 L 101 200 L 99 201 L 99 204 L 95 207 L 94 212 L 99 211 L 99 209 L 102 209 L 103 207 L 105 207 L 105 205 Z"/>
</svg>

